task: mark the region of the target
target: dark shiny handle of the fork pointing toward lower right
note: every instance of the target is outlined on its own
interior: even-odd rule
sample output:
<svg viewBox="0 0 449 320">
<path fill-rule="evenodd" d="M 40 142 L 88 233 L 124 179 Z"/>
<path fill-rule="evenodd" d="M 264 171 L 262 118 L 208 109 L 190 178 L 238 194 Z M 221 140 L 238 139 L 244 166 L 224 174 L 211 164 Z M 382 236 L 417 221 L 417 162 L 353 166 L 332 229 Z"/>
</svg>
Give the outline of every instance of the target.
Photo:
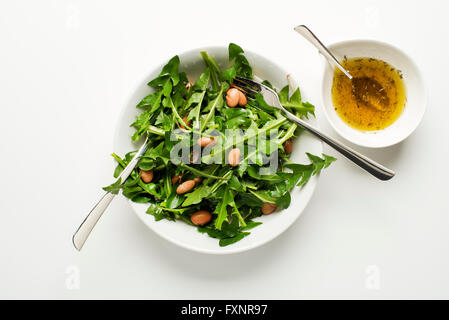
<svg viewBox="0 0 449 320">
<path fill-rule="evenodd" d="M 384 166 L 380 165 L 379 163 L 375 162 L 374 160 L 371 160 L 370 158 L 358 153 L 357 151 L 349 148 L 348 146 L 344 145 L 343 143 L 335 140 L 334 138 L 328 136 L 327 134 L 321 132 L 320 130 L 314 128 L 304 120 L 298 118 L 291 112 L 288 112 L 285 110 L 284 107 L 282 107 L 282 110 L 285 112 L 285 115 L 288 119 L 296 122 L 298 125 L 303 127 L 305 130 L 313 134 L 314 136 L 318 137 L 320 140 L 324 141 L 326 144 L 340 152 L 342 155 L 344 155 L 346 158 L 357 164 L 362 169 L 365 169 L 369 173 L 371 173 L 373 176 L 380 180 L 390 180 L 394 177 L 395 173 L 394 171 L 385 168 Z"/>
</svg>

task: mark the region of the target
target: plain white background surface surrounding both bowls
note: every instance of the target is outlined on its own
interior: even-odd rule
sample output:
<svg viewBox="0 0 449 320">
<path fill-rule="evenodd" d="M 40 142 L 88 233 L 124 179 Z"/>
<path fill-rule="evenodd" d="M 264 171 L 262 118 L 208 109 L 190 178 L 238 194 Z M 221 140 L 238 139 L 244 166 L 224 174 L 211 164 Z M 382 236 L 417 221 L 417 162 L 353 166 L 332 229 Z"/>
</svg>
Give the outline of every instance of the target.
<svg viewBox="0 0 449 320">
<path fill-rule="evenodd" d="M 449 298 L 447 3 L 2 1 L 0 298 Z M 72 233 L 112 181 L 120 111 L 177 53 L 231 41 L 262 53 L 292 71 L 336 136 L 320 109 L 321 57 L 298 24 L 326 43 L 389 42 L 420 66 L 420 127 L 397 146 L 358 148 L 397 177 L 376 181 L 326 148 L 340 160 L 300 219 L 261 248 L 186 251 L 119 197 L 76 252 Z"/>
</svg>

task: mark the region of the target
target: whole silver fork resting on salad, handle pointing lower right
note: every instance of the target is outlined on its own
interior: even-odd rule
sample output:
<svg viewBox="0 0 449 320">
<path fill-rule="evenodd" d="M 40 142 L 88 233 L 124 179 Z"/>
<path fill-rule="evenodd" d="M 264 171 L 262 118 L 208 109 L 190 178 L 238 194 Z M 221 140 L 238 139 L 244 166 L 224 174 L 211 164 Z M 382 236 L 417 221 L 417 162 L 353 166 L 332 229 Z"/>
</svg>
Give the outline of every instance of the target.
<svg viewBox="0 0 449 320">
<path fill-rule="evenodd" d="M 254 95 L 258 93 L 262 94 L 265 101 L 269 105 L 281 110 L 285 114 L 287 119 L 297 123 L 305 130 L 307 130 L 314 136 L 318 137 L 320 140 L 324 141 L 326 144 L 328 144 L 329 146 L 340 152 L 346 158 L 357 164 L 359 167 L 371 173 L 376 178 L 380 180 L 390 180 L 391 178 L 394 177 L 395 175 L 394 171 L 385 168 L 379 163 L 349 148 L 348 146 L 335 140 L 334 138 L 328 136 L 327 134 L 321 132 L 320 130 L 314 128 L 304 120 L 298 118 L 297 116 L 286 110 L 281 105 L 281 101 L 279 100 L 277 93 L 273 89 L 267 87 L 266 85 L 263 85 L 262 83 L 241 77 L 237 77 L 235 79 L 234 85 L 247 92 L 249 98 L 251 98 L 251 96 L 254 97 Z"/>
</svg>

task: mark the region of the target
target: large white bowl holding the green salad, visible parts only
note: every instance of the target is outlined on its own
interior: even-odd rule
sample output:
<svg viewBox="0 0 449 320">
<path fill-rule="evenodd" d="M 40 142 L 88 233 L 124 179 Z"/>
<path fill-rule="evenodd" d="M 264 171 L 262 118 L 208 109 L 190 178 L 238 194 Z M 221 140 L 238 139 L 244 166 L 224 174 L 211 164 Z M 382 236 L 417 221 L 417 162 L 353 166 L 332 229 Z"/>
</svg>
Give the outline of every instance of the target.
<svg viewBox="0 0 449 320">
<path fill-rule="evenodd" d="M 214 57 L 220 67 L 225 67 L 228 64 L 228 53 L 226 47 L 207 47 L 194 49 L 179 55 L 181 60 L 180 70 L 185 71 L 189 79 L 196 79 L 196 77 L 204 70 L 204 62 L 201 59 L 200 51 L 207 51 Z M 287 72 L 277 64 L 263 56 L 246 51 L 246 57 L 254 68 L 256 76 L 269 80 L 275 87 L 281 88 L 287 84 Z M 168 59 L 171 57 L 167 57 Z M 114 150 L 120 155 L 128 151 L 138 148 L 138 145 L 131 142 L 130 136 L 133 134 L 133 129 L 129 124 L 135 120 L 139 110 L 136 108 L 137 103 L 145 95 L 151 92 L 151 88 L 146 84 L 151 79 L 156 77 L 163 64 L 154 69 L 148 74 L 141 84 L 136 88 L 129 98 L 128 104 L 125 106 L 119 118 L 117 125 Z M 292 160 L 298 163 L 309 163 L 305 152 L 320 155 L 322 153 L 322 144 L 319 140 L 313 138 L 307 133 L 295 141 L 293 148 Z M 301 214 L 309 202 L 312 193 L 317 183 L 317 177 L 310 179 L 309 183 L 302 189 L 295 188 L 292 192 L 292 203 L 290 207 L 281 212 L 273 213 L 269 216 L 263 216 L 257 219 L 263 224 L 251 230 L 251 234 L 243 240 L 227 246 L 220 247 L 217 239 L 212 239 L 206 234 L 199 233 L 196 228 L 182 221 L 167 221 L 162 220 L 156 222 L 152 215 L 145 213 L 148 205 L 139 204 L 130 201 L 131 207 L 137 216 L 154 232 L 168 241 L 190 250 L 208 254 L 230 254 L 256 248 L 268 241 L 274 239 L 285 231 Z"/>
</svg>

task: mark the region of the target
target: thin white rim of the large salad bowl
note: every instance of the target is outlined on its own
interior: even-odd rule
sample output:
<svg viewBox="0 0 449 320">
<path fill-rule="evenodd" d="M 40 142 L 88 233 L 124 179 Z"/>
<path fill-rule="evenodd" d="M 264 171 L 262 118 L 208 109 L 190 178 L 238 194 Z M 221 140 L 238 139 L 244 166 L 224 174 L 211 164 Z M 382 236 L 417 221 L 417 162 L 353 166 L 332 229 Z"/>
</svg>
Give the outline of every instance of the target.
<svg viewBox="0 0 449 320">
<path fill-rule="evenodd" d="M 188 55 L 188 54 L 192 54 L 192 53 L 198 53 L 201 51 L 213 51 L 213 50 L 227 50 L 228 47 L 227 46 L 220 46 L 220 45 L 212 45 L 212 46 L 202 46 L 202 47 L 198 47 L 198 48 L 193 48 L 193 49 L 189 49 L 180 53 L 177 53 L 176 55 L 178 55 L 180 58 L 183 55 Z M 282 64 L 279 64 L 278 62 L 274 62 L 273 60 L 271 60 L 270 58 L 265 57 L 264 55 L 260 54 L 260 53 L 256 53 L 253 50 L 248 50 L 248 49 L 244 49 L 245 50 L 245 54 L 249 54 L 249 55 L 253 55 L 253 56 L 259 56 L 262 59 L 265 59 L 267 61 L 270 61 L 273 65 L 275 65 L 276 67 L 279 68 L 279 72 L 285 73 L 286 75 L 290 75 L 292 78 L 292 81 L 294 83 L 297 83 L 297 80 L 295 79 L 295 77 L 292 75 L 293 72 L 287 72 L 286 69 L 283 67 Z M 127 105 L 129 103 L 129 101 L 132 99 L 132 97 L 135 94 L 136 89 L 138 88 L 139 85 L 141 85 L 142 83 L 146 83 L 147 79 L 148 79 L 148 75 L 150 75 L 152 73 L 152 71 L 154 70 L 161 70 L 162 67 L 165 65 L 166 61 L 164 60 L 164 62 L 160 63 L 157 65 L 157 67 L 155 68 L 151 68 L 150 71 L 146 72 L 144 77 L 139 81 L 136 82 L 136 84 L 134 86 L 132 86 L 130 89 L 129 94 L 126 96 L 126 99 L 124 99 L 124 103 L 123 103 L 123 107 L 119 113 L 118 119 L 116 121 L 116 125 L 115 125 L 115 133 L 114 133 L 114 138 L 113 138 L 113 146 L 116 146 L 117 141 L 118 141 L 118 136 L 119 136 L 119 131 L 120 131 L 120 126 L 121 126 L 121 122 L 122 119 L 124 117 L 124 114 L 126 113 L 127 110 Z M 181 61 L 182 63 L 182 61 Z M 316 122 L 316 127 L 319 128 L 318 122 Z M 317 143 L 320 144 L 320 153 L 323 152 L 323 144 L 321 141 L 317 140 Z M 278 232 L 274 233 L 272 236 L 266 237 L 263 241 L 259 241 L 258 243 L 254 243 L 252 245 L 248 245 L 246 247 L 242 247 L 242 248 L 236 248 L 236 249 L 232 249 L 232 250 L 227 250 L 227 251 L 219 251 L 219 250 L 210 250 L 210 249 L 203 249 L 203 248 L 198 248 L 196 246 L 191 246 L 188 245 L 186 243 L 182 243 L 182 242 L 178 242 L 172 238 L 170 238 L 167 234 L 161 232 L 161 230 L 157 229 L 157 228 L 152 228 L 151 226 L 149 226 L 147 224 L 147 222 L 144 220 L 143 216 L 141 216 L 136 208 L 133 206 L 133 202 L 130 199 L 126 199 L 127 203 L 129 204 L 129 206 L 131 207 L 132 211 L 134 212 L 134 214 L 136 214 L 139 219 L 143 222 L 143 224 L 150 229 L 151 231 L 155 232 L 157 235 L 159 235 L 161 238 L 167 240 L 168 242 L 184 248 L 184 249 L 188 249 L 197 253 L 202 253 L 202 254 L 211 254 L 211 255 L 228 255 L 228 254 L 236 254 L 236 253 L 242 253 L 242 252 L 246 252 L 246 251 L 250 251 L 253 249 L 256 249 L 258 247 L 261 247 L 265 244 L 267 244 L 268 242 L 276 239 L 277 237 L 279 237 L 281 234 L 283 234 L 286 230 L 288 230 L 297 220 L 298 218 L 302 215 L 303 211 L 305 210 L 305 208 L 307 207 L 307 205 L 309 204 L 310 200 L 313 197 L 313 194 L 315 192 L 316 189 L 316 185 L 318 183 L 318 178 L 319 178 L 319 174 L 316 174 L 314 176 L 312 176 L 310 178 L 310 180 L 307 183 L 308 188 L 310 189 L 309 191 L 309 196 L 308 198 L 305 200 L 305 205 L 304 208 L 302 208 L 302 210 L 300 210 L 300 212 L 294 217 L 294 219 L 289 223 L 286 224 L 282 229 L 280 229 Z M 218 249 L 221 247 L 217 247 Z"/>
</svg>

